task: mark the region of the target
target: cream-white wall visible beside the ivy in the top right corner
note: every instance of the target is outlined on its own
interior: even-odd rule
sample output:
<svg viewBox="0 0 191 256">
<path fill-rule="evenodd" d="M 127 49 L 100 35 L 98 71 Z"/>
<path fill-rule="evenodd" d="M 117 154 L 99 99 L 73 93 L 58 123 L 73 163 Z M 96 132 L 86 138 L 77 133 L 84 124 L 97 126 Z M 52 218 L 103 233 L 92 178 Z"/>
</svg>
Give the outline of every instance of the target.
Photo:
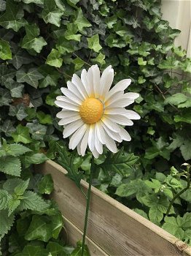
<svg viewBox="0 0 191 256">
<path fill-rule="evenodd" d="M 182 31 L 175 39 L 175 45 L 181 45 L 191 57 L 191 0 L 162 0 L 161 12 L 173 29 Z"/>
</svg>

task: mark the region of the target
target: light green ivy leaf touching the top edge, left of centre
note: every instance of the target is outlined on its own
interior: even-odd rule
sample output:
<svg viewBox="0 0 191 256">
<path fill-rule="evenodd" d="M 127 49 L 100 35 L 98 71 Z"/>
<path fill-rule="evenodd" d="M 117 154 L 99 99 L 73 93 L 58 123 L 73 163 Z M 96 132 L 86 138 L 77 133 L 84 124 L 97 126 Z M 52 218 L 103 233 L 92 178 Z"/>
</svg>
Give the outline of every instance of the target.
<svg viewBox="0 0 191 256">
<path fill-rule="evenodd" d="M 55 26 L 61 26 L 61 16 L 63 11 L 57 8 L 55 0 L 44 0 L 44 9 L 42 18 L 45 23 L 52 23 Z"/>
</svg>

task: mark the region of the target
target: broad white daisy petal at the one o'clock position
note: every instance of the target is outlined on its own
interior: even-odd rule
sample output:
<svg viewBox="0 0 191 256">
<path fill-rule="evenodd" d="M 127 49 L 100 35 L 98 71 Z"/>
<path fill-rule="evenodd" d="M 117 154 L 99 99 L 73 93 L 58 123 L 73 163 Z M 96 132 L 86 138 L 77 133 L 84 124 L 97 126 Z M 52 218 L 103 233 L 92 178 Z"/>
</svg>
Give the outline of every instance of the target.
<svg viewBox="0 0 191 256">
<path fill-rule="evenodd" d="M 104 72 L 101 75 L 101 94 L 106 95 L 108 93 L 110 87 L 112 86 L 112 82 L 114 80 L 114 69 L 112 66 L 107 67 L 104 69 Z"/>
</svg>

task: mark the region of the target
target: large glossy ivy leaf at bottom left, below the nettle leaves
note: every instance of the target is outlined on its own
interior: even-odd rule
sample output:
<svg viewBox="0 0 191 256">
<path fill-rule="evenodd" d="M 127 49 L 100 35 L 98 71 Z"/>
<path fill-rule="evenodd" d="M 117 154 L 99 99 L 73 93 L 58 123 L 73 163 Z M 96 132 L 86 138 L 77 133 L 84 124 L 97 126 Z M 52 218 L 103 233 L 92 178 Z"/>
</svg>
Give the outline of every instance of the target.
<svg viewBox="0 0 191 256">
<path fill-rule="evenodd" d="M 34 215 L 25 235 L 25 239 L 47 242 L 52 237 L 52 224 L 45 216 Z"/>
</svg>

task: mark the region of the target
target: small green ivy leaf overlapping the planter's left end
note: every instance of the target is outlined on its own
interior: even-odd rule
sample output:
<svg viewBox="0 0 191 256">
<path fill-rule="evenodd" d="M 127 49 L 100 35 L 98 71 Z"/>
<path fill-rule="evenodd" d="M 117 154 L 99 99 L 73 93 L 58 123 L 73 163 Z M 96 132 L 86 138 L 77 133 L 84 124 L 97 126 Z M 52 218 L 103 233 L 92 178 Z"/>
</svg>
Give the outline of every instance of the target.
<svg viewBox="0 0 191 256">
<path fill-rule="evenodd" d="M 50 195 L 50 193 L 54 190 L 54 184 L 50 174 L 42 177 L 41 181 L 38 183 L 38 189 L 39 193 Z"/>
</svg>

